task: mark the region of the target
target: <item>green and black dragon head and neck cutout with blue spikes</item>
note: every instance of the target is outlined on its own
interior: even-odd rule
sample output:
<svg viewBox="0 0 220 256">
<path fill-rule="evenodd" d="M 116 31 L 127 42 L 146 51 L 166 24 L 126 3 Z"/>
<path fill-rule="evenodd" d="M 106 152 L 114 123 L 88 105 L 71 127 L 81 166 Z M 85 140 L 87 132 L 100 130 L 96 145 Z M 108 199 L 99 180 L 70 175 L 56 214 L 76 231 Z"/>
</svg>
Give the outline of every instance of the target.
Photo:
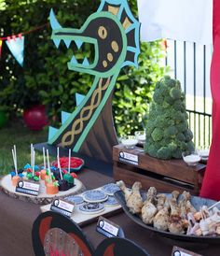
<svg viewBox="0 0 220 256">
<path fill-rule="evenodd" d="M 78 49 L 83 43 L 94 46 L 91 64 L 87 58 L 78 64 L 73 55 L 68 68 L 95 78 L 85 97 L 77 95 L 76 100 L 81 102 L 76 110 L 72 114 L 62 112 L 62 127 L 49 127 L 48 144 L 109 162 L 112 146 L 117 144 L 111 112 L 112 93 L 120 69 L 125 65 L 138 66 L 140 23 L 132 16 L 127 0 L 103 0 L 80 29 L 62 28 L 52 10 L 49 19 L 51 38 L 57 48 L 61 40 L 67 48 L 72 41 Z"/>
</svg>

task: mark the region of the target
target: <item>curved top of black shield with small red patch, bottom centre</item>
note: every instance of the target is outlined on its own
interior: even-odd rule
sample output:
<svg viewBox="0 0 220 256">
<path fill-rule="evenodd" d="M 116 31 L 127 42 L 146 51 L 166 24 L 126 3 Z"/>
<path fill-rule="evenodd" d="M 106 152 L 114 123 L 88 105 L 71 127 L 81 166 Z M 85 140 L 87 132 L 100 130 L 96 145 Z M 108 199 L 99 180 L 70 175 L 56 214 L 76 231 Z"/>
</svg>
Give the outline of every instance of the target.
<svg viewBox="0 0 220 256">
<path fill-rule="evenodd" d="M 94 256 L 150 256 L 144 249 L 127 238 L 104 239 L 95 250 Z"/>
</svg>

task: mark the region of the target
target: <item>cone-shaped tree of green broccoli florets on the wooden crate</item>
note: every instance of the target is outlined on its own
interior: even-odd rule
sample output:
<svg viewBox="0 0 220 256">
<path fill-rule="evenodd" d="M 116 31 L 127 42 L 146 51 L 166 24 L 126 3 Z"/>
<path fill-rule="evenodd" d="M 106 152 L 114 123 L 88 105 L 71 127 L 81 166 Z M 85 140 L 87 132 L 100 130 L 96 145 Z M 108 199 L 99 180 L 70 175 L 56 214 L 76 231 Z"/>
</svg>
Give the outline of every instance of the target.
<svg viewBox="0 0 220 256">
<path fill-rule="evenodd" d="M 162 78 L 156 84 L 149 109 L 145 152 L 160 159 L 178 159 L 183 151 L 194 150 L 187 119 L 185 94 L 180 82 L 169 76 Z"/>
</svg>

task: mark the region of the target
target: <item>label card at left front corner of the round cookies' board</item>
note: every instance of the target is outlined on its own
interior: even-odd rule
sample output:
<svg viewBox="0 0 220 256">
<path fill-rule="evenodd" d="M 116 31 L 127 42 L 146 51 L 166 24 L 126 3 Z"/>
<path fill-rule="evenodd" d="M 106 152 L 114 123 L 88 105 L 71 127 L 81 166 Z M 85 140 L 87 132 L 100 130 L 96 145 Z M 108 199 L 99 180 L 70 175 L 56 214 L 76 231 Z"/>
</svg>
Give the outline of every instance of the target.
<svg viewBox="0 0 220 256">
<path fill-rule="evenodd" d="M 50 206 L 50 210 L 59 212 L 67 217 L 71 217 L 74 210 L 74 204 L 61 199 L 55 199 Z"/>
</svg>

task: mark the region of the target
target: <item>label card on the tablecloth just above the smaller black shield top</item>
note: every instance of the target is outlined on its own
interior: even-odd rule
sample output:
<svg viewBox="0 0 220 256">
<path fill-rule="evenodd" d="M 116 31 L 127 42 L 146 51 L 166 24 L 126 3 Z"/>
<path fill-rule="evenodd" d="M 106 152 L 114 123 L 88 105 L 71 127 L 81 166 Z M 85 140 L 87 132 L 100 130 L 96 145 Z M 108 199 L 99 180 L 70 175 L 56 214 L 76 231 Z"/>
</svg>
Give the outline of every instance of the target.
<svg viewBox="0 0 220 256">
<path fill-rule="evenodd" d="M 97 222 L 96 231 L 107 237 L 125 237 L 120 226 L 111 220 L 103 218 L 103 216 L 100 216 Z"/>
</svg>

